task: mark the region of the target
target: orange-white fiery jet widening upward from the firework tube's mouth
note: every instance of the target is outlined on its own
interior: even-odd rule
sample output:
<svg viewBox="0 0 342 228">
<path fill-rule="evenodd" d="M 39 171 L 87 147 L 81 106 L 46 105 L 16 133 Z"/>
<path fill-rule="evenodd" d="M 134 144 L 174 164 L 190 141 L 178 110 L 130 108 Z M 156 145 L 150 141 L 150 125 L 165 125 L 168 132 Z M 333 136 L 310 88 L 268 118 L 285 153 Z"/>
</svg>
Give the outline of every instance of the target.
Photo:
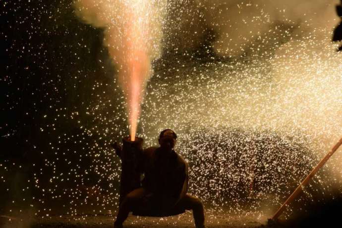
<svg viewBox="0 0 342 228">
<path fill-rule="evenodd" d="M 125 95 L 131 141 L 137 131 L 144 88 L 152 75 L 151 60 L 160 56 L 163 7 L 163 1 L 144 0 L 75 3 L 76 14 L 81 19 L 105 29 L 104 43 Z"/>
</svg>

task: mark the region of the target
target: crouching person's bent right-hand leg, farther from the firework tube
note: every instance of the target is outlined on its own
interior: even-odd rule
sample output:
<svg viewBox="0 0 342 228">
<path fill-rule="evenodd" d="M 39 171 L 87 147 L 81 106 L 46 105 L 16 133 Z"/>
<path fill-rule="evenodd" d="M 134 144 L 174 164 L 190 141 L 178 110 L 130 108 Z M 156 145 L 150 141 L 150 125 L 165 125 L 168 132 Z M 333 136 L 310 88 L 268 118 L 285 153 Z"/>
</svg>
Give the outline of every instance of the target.
<svg viewBox="0 0 342 228">
<path fill-rule="evenodd" d="M 177 207 L 184 208 L 185 210 L 192 210 L 195 220 L 196 228 L 204 228 L 204 208 L 201 200 L 194 196 L 186 194 L 177 203 Z"/>
</svg>

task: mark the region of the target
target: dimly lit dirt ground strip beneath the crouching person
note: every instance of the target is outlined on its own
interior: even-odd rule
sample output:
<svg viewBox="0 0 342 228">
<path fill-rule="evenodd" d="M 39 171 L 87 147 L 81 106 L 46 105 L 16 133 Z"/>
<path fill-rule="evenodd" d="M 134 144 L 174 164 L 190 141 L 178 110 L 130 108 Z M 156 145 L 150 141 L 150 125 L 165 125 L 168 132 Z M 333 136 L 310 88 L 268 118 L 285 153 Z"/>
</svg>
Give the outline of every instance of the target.
<svg viewBox="0 0 342 228">
<path fill-rule="evenodd" d="M 113 228 L 114 217 L 101 216 L 49 216 L 45 218 L 15 219 L 2 216 L 0 228 Z M 206 216 L 208 228 L 257 228 L 266 223 L 260 216 L 211 214 Z M 151 218 L 129 216 L 125 228 L 194 228 L 192 214 Z"/>
</svg>

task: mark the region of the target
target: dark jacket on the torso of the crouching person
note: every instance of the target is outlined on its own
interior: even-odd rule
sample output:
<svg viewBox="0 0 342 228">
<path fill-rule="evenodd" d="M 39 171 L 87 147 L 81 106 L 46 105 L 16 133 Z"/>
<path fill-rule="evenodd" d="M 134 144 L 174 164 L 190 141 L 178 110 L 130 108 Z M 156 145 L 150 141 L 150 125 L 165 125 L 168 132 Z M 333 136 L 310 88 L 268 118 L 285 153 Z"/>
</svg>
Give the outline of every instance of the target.
<svg viewBox="0 0 342 228">
<path fill-rule="evenodd" d="M 160 147 L 144 150 L 142 186 L 152 193 L 155 206 L 171 208 L 186 194 L 188 164 L 173 150 L 167 156 L 163 152 Z"/>
</svg>

